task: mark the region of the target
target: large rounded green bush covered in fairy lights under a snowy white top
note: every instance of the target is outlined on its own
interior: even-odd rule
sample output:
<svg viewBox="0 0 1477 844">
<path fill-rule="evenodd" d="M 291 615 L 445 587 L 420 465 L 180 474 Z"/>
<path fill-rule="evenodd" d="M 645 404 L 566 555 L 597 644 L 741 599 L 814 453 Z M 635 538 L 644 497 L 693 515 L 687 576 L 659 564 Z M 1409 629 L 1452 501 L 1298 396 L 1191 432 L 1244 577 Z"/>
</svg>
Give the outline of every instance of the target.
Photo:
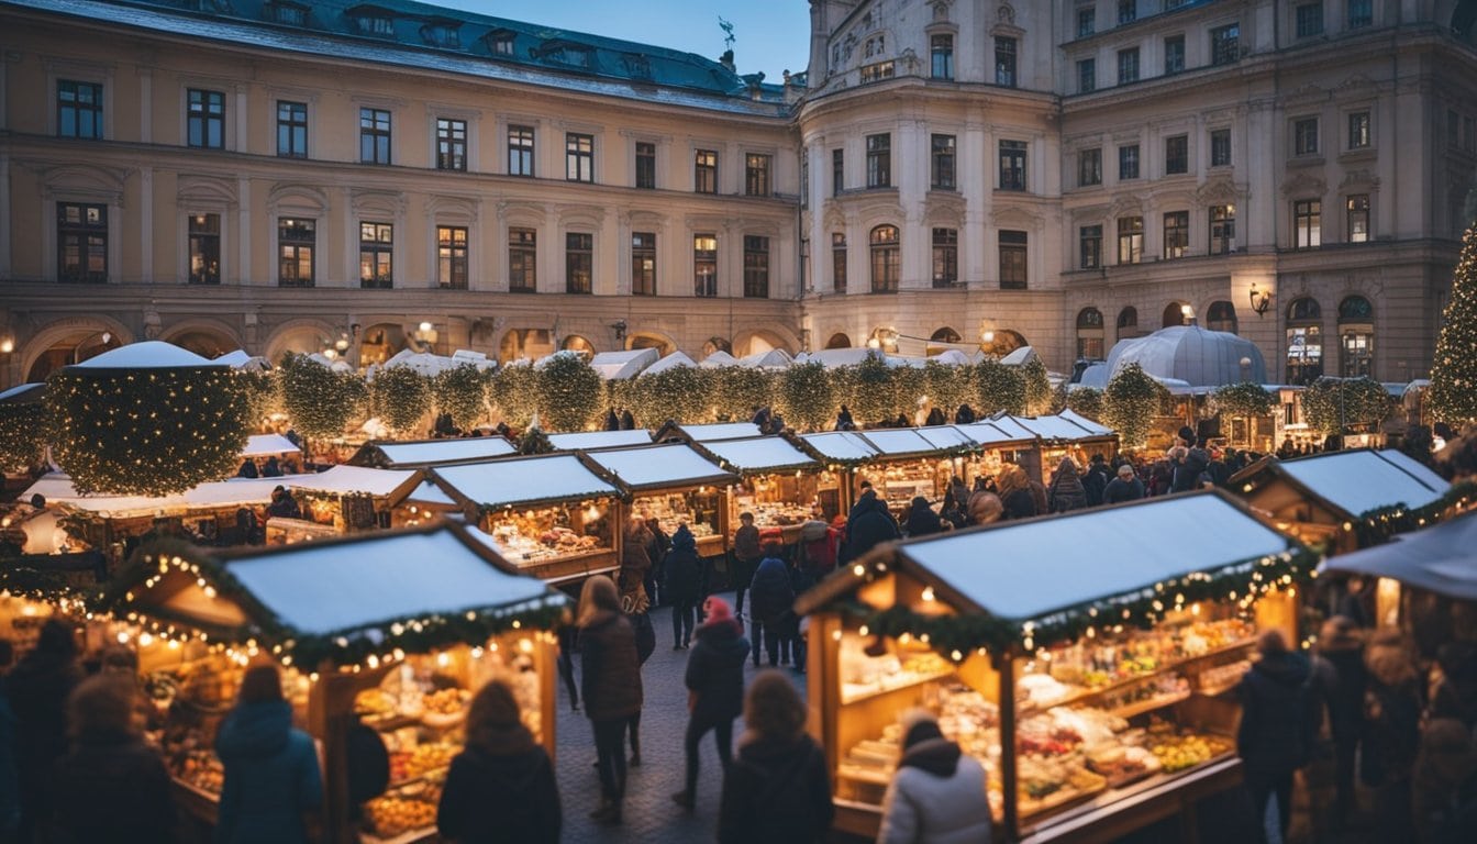
<svg viewBox="0 0 1477 844">
<path fill-rule="evenodd" d="M 230 477 L 250 412 L 235 375 L 227 367 L 53 372 L 56 461 L 84 495 L 168 495 Z"/>
</svg>

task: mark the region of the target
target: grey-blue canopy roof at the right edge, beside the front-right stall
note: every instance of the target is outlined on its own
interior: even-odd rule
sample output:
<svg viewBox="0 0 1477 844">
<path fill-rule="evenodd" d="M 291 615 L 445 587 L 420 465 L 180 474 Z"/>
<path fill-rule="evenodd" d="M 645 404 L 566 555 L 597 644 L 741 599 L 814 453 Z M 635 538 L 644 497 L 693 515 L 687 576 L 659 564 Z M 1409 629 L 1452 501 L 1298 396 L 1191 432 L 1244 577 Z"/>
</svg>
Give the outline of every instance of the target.
<svg viewBox="0 0 1477 844">
<path fill-rule="evenodd" d="M 1328 557 L 1317 571 L 1390 578 L 1477 600 L 1477 510 L 1381 545 Z"/>
</svg>

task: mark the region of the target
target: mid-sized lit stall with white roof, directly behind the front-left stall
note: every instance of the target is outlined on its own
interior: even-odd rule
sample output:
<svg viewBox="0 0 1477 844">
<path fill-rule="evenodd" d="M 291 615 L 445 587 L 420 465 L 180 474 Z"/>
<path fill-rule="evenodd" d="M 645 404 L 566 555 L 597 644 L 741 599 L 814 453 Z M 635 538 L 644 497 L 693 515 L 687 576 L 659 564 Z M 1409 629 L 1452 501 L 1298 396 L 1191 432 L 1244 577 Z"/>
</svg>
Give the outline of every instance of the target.
<svg viewBox="0 0 1477 844">
<path fill-rule="evenodd" d="M 567 582 L 620 565 L 620 489 L 579 455 L 510 457 L 430 473 L 523 574 Z"/>
</svg>

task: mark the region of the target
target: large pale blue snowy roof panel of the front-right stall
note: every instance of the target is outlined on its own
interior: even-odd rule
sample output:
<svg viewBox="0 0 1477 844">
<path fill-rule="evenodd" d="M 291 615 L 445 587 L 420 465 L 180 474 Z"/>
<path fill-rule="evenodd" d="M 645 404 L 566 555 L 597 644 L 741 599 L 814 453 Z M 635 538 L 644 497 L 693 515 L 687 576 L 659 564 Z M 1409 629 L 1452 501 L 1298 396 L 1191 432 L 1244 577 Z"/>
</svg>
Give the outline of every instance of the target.
<svg viewBox="0 0 1477 844">
<path fill-rule="evenodd" d="M 1165 525 L 1193 525 L 1195 541 L 1145 541 Z M 1286 538 L 1220 494 L 1198 492 L 1001 522 L 904 542 L 898 553 L 985 612 L 1024 621 L 1289 547 Z M 1083 548 L 1093 548 L 1094 565 L 1083 565 Z"/>
</svg>

